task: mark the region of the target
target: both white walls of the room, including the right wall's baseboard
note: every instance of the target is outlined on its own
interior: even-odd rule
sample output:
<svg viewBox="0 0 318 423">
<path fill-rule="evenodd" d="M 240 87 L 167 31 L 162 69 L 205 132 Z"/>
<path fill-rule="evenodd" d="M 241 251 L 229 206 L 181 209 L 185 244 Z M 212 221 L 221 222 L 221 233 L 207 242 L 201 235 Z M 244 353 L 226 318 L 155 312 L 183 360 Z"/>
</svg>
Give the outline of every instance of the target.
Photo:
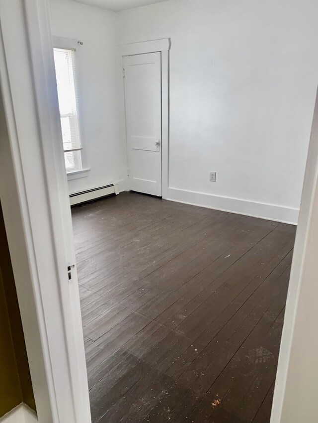
<svg viewBox="0 0 318 423">
<path fill-rule="evenodd" d="M 53 34 L 84 43 L 91 171 L 69 181 L 70 192 L 126 177 L 117 46 L 170 37 L 167 197 L 297 221 L 318 84 L 317 1 L 169 0 L 118 13 L 69 0 L 50 6 Z"/>
</svg>

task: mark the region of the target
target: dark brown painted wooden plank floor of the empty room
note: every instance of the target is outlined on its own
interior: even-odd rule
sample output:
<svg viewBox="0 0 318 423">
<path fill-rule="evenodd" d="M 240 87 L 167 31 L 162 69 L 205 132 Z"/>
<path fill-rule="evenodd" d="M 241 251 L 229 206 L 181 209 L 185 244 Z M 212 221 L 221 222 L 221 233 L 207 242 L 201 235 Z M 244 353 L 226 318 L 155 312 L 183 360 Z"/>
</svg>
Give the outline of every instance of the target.
<svg viewBox="0 0 318 423">
<path fill-rule="evenodd" d="M 72 214 L 93 423 L 268 423 L 295 227 L 132 192 Z"/>
</svg>

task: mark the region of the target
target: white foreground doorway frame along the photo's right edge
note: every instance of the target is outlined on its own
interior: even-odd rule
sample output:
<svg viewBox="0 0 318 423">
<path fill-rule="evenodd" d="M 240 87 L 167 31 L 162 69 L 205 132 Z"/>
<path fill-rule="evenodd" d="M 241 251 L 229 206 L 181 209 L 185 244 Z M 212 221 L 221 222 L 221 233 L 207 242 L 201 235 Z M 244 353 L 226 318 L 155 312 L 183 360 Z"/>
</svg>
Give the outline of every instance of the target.
<svg viewBox="0 0 318 423">
<path fill-rule="evenodd" d="M 287 294 L 271 423 L 318 422 L 318 95 Z"/>
</svg>

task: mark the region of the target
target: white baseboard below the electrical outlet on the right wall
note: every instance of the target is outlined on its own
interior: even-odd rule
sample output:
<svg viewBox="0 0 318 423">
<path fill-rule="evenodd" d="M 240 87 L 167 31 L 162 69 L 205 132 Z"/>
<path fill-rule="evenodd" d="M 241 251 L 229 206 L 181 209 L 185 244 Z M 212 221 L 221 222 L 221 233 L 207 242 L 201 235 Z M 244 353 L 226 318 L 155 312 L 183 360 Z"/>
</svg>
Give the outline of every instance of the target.
<svg viewBox="0 0 318 423">
<path fill-rule="evenodd" d="M 205 192 L 167 188 L 166 200 L 297 225 L 299 209 Z"/>
</svg>

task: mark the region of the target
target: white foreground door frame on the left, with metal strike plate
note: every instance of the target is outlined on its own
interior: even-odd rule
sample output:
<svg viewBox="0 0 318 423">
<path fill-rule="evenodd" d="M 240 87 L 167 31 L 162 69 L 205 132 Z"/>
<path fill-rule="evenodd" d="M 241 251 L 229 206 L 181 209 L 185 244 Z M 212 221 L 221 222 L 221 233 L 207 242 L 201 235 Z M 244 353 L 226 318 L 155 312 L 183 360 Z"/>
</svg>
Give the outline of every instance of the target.
<svg viewBox="0 0 318 423">
<path fill-rule="evenodd" d="M 89 423 L 48 0 L 0 0 L 0 200 L 38 419 Z"/>
</svg>

